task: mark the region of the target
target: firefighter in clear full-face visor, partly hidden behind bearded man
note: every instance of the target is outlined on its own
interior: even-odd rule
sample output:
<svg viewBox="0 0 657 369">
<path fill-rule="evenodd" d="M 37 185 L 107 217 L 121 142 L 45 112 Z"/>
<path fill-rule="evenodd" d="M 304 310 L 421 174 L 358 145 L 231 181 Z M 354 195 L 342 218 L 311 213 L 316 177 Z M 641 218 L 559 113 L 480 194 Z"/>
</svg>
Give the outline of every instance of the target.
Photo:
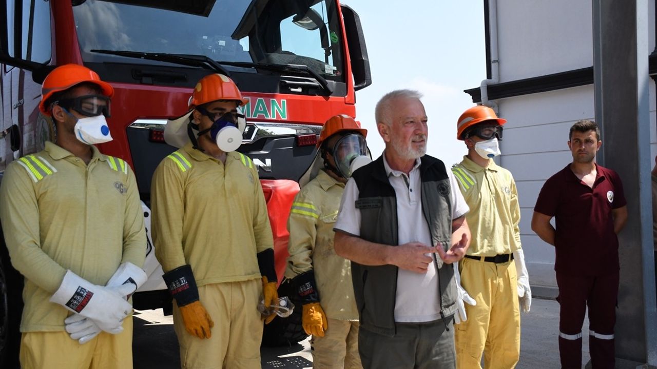
<svg viewBox="0 0 657 369">
<path fill-rule="evenodd" d="M 317 141 L 315 162 L 300 181 L 302 189 L 288 218 L 290 257 L 285 276 L 292 278 L 303 303 L 302 325 L 313 336 L 313 368 L 362 368 L 350 261 L 333 249 L 333 226 L 344 184 L 355 167 L 371 162 L 366 135 L 350 116 L 328 119 Z"/>
</svg>

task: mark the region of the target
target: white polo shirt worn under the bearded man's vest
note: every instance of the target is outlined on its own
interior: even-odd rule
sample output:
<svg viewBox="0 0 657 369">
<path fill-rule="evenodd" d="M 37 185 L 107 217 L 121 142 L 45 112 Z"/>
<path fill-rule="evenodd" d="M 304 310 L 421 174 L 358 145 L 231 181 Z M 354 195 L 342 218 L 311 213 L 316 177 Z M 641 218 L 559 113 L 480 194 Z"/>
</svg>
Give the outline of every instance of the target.
<svg viewBox="0 0 657 369">
<path fill-rule="evenodd" d="M 422 215 L 420 159 L 407 176 L 401 171 L 390 168 L 383 155 L 383 163 L 390 185 L 395 189 L 397 198 L 397 236 L 399 245 L 408 242 L 422 242 L 432 245 L 429 226 Z M 452 219 L 462 217 L 469 211 L 459 185 L 451 171 L 445 168 L 451 186 Z M 361 232 L 361 213 L 355 207 L 358 200 L 358 186 L 349 180 L 344 188 L 340 213 L 334 229 L 359 236 Z M 436 253 L 426 254 L 437 257 Z M 396 322 L 432 322 L 440 318 L 440 296 L 438 295 L 438 274 L 436 264 L 430 263 L 424 274 L 399 269 L 397 272 L 397 294 L 395 303 Z"/>
</svg>

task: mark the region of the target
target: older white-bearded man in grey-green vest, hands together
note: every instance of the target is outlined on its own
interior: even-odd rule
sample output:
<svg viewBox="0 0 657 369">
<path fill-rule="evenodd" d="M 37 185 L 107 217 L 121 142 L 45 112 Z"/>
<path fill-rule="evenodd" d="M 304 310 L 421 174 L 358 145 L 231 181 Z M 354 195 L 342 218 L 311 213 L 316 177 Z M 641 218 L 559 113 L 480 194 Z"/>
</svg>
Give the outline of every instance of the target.
<svg viewBox="0 0 657 369">
<path fill-rule="evenodd" d="M 468 206 L 451 171 L 425 155 L 420 97 L 397 90 L 376 104 L 386 149 L 353 173 L 334 227 L 336 253 L 351 260 L 364 368 L 455 368 L 452 263 L 470 242 Z"/>
</svg>

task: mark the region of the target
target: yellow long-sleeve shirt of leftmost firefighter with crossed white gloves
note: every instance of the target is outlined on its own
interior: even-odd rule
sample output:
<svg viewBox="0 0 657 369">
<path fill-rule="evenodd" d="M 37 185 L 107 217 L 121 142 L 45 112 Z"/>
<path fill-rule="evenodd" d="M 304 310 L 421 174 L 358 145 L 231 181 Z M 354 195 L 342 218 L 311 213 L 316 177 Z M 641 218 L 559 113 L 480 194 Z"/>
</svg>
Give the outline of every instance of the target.
<svg viewBox="0 0 657 369">
<path fill-rule="evenodd" d="M 123 160 L 91 148 L 85 165 L 46 142 L 5 170 L 0 219 L 11 263 L 25 276 L 21 332 L 64 330 L 70 313 L 49 299 L 67 269 L 104 286 L 121 263 L 144 263 L 135 175 Z"/>
</svg>

